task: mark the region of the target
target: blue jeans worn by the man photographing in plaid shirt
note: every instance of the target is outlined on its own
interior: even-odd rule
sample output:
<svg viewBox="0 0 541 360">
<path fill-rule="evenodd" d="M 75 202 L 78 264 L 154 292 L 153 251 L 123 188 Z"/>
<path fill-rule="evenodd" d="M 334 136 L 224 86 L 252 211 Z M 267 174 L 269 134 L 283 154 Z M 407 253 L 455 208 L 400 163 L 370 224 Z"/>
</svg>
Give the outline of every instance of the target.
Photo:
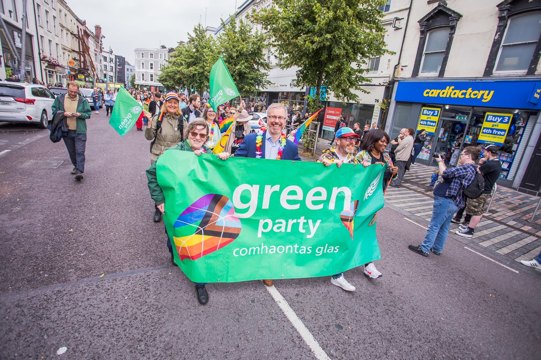
<svg viewBox="0 0 541 360">
<path fill-rule="evenodd" d="M 428 253 L 433 248 L 434 251 L 441 253 L 445 240 L 447 240 L 451 219 L 457 210 L 458 207 L 453 199 L 440 198 L 440 196 L 434 195 L 432 218 L 428 224 L 428 230 L 426 230 L 425 240 L 421 244 L 421 249 L 424 252 Z"/>
</svg>

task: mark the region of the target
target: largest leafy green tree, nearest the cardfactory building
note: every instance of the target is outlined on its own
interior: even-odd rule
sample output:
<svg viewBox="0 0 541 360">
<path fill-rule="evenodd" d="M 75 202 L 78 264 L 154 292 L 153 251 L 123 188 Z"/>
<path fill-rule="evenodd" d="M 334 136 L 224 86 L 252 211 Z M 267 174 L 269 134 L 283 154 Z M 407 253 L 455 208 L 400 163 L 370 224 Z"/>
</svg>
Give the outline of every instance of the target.
<svg viewBox="0 0 541 360">
<path fill-rule="evenodd" d="M 385 49 L 378 6 L 386 0 L 274 0 L 269 9 L 255 10 L 250 20 L 268 31 L 280 67 L 298 66 L 296 86 L 316 86 L 313 108 L 319 108 L 321 85 L 344 102 L 358 101 L 354 91 L 370 58 Z"/>
</svg>

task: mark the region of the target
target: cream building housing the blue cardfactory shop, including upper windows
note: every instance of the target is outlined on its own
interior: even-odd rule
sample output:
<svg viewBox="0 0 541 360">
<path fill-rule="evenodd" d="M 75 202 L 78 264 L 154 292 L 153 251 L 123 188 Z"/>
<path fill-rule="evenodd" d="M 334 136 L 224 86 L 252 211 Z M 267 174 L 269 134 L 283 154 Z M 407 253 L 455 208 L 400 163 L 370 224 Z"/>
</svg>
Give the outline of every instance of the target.
<svg viewBox="0 0 541 360">
<path fill-rule="evenodd" d="M 430 133 L 426 165 L 455 140 L 501 146 L 497 184 L 539 195 L 540 36 L 539 1 L 414 1 L 385 130 Z"/>
</svg>

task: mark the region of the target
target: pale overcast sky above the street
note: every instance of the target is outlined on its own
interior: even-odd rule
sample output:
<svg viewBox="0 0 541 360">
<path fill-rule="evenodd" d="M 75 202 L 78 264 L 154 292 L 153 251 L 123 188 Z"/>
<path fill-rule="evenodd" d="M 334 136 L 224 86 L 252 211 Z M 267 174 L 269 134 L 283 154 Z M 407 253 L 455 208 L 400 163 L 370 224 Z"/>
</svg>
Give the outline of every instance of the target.
<svg viewBox="0 0 541 360">
<path fill-rule="evenodd" d="M 186 41 L 194 25 L 220 25 L 220 18 L 227 18 L 245 0 L 67 0 L 77 17 L 102 27 L 104 49 L 113 49 L 115 55 L 126 57 L 134 64 L 137 47 L 174 47 Z"/>
</svg>

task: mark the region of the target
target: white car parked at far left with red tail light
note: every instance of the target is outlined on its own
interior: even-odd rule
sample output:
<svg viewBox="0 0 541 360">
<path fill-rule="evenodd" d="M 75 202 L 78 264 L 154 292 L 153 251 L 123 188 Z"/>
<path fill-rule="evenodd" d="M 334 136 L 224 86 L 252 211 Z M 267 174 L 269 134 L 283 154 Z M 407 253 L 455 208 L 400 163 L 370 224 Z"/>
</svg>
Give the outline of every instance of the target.
<svg viewBox="0 0 541 360">
<path fill-rule="evenodd" d="M 55 98 L 43 85 L 0 81 L 0 121 L 33 123 L 46 128 L 52 120 Z"/>
</svg>

